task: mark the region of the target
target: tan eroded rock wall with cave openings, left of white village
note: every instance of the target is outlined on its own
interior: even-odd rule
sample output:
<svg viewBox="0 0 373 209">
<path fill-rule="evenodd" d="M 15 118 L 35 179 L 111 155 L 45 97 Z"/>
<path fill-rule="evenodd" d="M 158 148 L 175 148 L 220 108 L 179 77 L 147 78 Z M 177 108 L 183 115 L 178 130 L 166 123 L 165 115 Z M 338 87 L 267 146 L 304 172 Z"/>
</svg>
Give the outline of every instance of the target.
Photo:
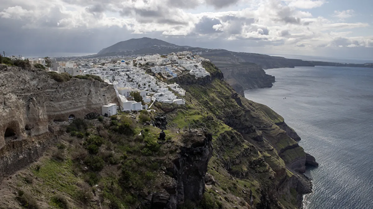
<svg viewBox="0 0 373 209">
<path fill-rule="evenodd" d="M 60 83 L 42 70 L 0 65 L 0 149 L 47 133 L 54 120 L 100 113 L 102 105 L 116 100 L 106 83 L 76 78 Z"/>
</svg>

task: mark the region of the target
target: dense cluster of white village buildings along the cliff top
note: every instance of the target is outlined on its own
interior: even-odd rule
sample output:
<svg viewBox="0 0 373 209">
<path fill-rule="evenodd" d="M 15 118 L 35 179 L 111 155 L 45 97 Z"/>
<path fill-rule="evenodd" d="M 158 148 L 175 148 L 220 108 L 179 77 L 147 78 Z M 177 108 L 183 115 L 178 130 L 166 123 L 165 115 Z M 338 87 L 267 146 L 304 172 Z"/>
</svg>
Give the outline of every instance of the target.
<svg viewBox="0 0 373 209">
<path fill-rule="evenodd" d="M 117 111 L 147 110 L 154 102 L 185 105 L 185 90 L 172 79 L 186 74 L 196 78 L 210 75 L 202 66 L 205 58 L 184 51 L 169 55 L 144 55 L 137 58 L 95 58 L 68 62 L 50 59 L 49 71 L 68 73 L 72 76 L 96 75 L 112 84 L 119 102 L 102 107 L 102 115 L 116 115 Z M 31 64 L 43 64 L 44 60 L 29 60 Z M 168 80 L 168 82 L 164 82 Z M 170 84 L 171 83 L 171 84 Z M 141 98 L 134 98 L 135 94 Z"/>
</svg>

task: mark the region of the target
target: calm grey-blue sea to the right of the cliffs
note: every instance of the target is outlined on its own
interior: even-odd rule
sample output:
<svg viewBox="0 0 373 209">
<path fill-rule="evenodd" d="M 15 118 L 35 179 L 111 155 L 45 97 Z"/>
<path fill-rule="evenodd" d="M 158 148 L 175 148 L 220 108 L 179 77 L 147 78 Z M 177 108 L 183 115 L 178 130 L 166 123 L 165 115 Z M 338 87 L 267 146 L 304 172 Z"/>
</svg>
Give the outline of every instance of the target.
<svg viewBox="0 0 373 209">
<path fill-rule="evenodd" d="M 298 67 L 266 73 L 276 77 L 274 86 L 246 91 L 246 98 L 282 115 L 320 164 L 306 173 L 313 193 L 305 195 L 304 208 L 373 208 L 373 69 Z"/>
</svg>

